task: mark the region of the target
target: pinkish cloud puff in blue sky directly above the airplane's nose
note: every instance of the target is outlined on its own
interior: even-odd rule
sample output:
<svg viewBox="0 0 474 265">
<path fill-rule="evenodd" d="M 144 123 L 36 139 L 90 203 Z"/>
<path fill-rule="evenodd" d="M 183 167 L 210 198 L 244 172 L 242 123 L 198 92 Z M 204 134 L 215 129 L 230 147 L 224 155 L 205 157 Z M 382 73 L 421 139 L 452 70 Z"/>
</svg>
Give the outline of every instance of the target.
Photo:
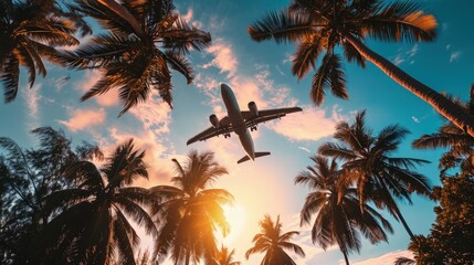
<svg viewBox="0 0 474 265">
<path fill-rule="evenodd" d="M 232 51 L 232 45 L 218 39 L 211 46 L 206 49 L 206 51 L 212 54 L 214 59 L 211 62 L 201 65 L 202 68 L 209 68 L 211 66 L 218 67 L 220 73 L 228 73 L 228 78 L 235 75 L 239 63 L 234 52 Z"/>
</svg>

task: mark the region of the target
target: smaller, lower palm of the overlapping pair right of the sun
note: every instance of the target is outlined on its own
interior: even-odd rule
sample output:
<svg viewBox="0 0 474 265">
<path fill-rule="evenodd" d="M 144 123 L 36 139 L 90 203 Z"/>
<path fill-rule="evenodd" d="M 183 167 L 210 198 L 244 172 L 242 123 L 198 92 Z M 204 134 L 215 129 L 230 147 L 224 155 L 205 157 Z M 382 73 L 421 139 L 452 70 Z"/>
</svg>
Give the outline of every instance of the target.
<svg viewBox="0 0 474 265">
<path fill-rule="evenodd" d="M 307 167 L 307 171 L 295 178 L 295 184 L 306 184 L 312 192 L 306 197 L 301 212 L 301 225 L 310 224 L 313 215 L 313 243 L 318 243 L 324 250 L 338 244 L 344 254 L 346 264 L 350 251 L 360 251 L 359 231 L 372 244 L 387 241 L 385 230 L 392 233 L 390 223 L 375 209 L 364 204 L 364 212 L 359 209 L 359 199 L 356 189 L 338 184 L 341 170 L 335 160 L 317 156 L 310 158 L 315 166 Z"/>
</svg>

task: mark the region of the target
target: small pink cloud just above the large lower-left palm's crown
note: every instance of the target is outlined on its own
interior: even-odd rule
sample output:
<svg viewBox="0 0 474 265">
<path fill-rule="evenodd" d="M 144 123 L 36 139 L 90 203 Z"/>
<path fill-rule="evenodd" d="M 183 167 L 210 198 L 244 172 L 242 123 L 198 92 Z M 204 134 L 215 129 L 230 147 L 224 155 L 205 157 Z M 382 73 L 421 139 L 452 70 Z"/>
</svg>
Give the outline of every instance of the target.
<svg viewBox="0 0 474 265">
<path fill-rule="evenodd" d="M 84 130 L 95 125 L 102 125 L 105 121 L 105 110 L 99 109 L 77 109 L 73 110 L 69 120 L 59 120 L 71 131 Z"/>
</svg>

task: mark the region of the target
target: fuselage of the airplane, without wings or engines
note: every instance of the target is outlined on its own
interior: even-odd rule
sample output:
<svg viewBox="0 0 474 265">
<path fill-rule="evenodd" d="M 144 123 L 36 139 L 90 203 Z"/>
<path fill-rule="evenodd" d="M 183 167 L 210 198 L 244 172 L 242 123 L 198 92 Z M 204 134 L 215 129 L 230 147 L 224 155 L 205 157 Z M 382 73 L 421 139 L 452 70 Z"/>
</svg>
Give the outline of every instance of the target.
<svg viewBox="0 0 474 265">
<path fill-rule="evenodd" d="M 245 127 L 245 123 L 242 117 L 234 93 L 228 85 L 221 84 L 221 95 L 222 95 L 222 99 L 224 102 L 225 108 L 228 110 L 228 117 L 230 119 L 233 130 L 239 136 L 239 140 L 243 149 L 245 150 L 246 155 L 252 160 L 254 160 L 255 149 L 253 147 L 253 139 L 252 139 L 252 136 L 250 135 L 249 129 Z"/>
</svg>

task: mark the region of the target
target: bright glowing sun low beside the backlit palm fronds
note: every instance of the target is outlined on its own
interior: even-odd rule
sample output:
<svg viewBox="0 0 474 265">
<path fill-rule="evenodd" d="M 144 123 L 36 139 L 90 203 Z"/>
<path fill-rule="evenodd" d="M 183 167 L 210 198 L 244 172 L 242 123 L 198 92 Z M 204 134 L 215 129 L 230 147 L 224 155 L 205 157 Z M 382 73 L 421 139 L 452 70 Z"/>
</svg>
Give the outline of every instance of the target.
<svg viewBox="0 0 474 265">
<path fill-rule="evenodd" d="M 231 230 L 225 237 L 222 237 L 222 235 L 218 237 L 224 245 L 229 245 L 242 234 L 245 227 L 246 212 L 242 205 L 235 203 L 233 205 L 225 204 L 222 209 Z"/>
</svg>

